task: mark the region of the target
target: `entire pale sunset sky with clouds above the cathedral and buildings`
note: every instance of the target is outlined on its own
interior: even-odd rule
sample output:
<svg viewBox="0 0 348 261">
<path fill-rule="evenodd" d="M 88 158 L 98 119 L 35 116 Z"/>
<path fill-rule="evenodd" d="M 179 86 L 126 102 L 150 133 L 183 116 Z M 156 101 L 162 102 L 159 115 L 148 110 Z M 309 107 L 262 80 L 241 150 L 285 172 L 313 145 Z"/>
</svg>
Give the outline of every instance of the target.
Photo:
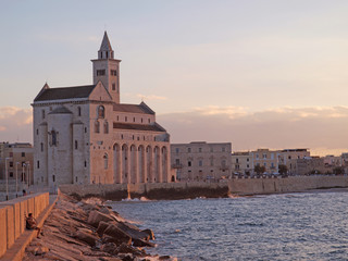
<svg viewBox="0 0 348 261">
<path fill-rule="evenodd" d="M 0 2 L 0 140 L 33 141 L 30 103 L 88 85 L 107 30 L 121 101 L 172 142 L 348 151 L 348 1 Z"/>
</svg>

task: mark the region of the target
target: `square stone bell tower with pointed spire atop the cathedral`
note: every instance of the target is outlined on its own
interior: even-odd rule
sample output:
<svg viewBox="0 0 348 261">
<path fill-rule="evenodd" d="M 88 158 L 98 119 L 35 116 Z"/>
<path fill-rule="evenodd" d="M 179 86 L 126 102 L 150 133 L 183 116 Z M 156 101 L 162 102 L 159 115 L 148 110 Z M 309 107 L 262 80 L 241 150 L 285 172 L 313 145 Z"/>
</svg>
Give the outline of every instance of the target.
<svg viewBox="0 0 348 261">
<path fill-rule="evenodd" d="M 114 53 L 109 41 L 107 32 L 102 38 L 98 59 L 91 60 L 94 63 L 94 84 L 99 80 L 109 90 L 112 100 L 120 103 L 120 62 L 114 59 Z"/>
</svg>

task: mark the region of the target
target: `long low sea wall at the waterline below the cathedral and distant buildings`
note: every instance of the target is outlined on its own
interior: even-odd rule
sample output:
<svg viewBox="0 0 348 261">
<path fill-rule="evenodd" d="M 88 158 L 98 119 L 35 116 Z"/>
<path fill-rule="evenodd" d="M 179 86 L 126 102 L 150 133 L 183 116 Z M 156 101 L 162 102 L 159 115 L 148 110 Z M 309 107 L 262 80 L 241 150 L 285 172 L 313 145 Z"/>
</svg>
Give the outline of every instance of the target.
<svg viewBox="0 0 348 261">
<path fill-rule="evenodd" d="M 110 185 L 62 185 L 60 190 L 75 197 L 185 199 L 221 198 L 228 195 L 298 192 L 310 189 L 348 187 L 348 176 L 289 176 L 285 178 L 233 178 L 220 183 L 148 183 Z"/>
</svg>

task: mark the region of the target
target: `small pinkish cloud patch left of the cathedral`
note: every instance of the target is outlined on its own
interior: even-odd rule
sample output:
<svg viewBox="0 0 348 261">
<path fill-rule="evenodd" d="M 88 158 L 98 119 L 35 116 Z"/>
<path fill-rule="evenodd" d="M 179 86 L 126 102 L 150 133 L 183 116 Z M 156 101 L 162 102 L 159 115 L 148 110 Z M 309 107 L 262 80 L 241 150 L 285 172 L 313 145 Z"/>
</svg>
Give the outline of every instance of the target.
<svg viewBox="0 0 348 261">
<path fill-rule="evenodd" d="M 17 107 L 0 108 L 0 141 L 33 142 L 32 109 Z"/>
</svg>

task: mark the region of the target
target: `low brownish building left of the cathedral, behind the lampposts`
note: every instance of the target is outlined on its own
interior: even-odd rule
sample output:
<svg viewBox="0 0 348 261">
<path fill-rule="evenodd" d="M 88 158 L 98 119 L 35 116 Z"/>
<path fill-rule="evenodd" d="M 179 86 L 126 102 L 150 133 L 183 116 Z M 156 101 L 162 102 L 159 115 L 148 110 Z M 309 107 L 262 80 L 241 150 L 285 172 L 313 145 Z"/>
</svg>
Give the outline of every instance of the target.
<svg viewBox="0 0 348 261">
<path fill-rule="evenodd" d="M 0 179 L 15 179 L 33 184 L 34 148 L 26 142 L 0 142 Z M 7 167 L 5 167 L 7 164 Z M 8 173 L 5 172 L 5 169 Z"/>
</svg>

